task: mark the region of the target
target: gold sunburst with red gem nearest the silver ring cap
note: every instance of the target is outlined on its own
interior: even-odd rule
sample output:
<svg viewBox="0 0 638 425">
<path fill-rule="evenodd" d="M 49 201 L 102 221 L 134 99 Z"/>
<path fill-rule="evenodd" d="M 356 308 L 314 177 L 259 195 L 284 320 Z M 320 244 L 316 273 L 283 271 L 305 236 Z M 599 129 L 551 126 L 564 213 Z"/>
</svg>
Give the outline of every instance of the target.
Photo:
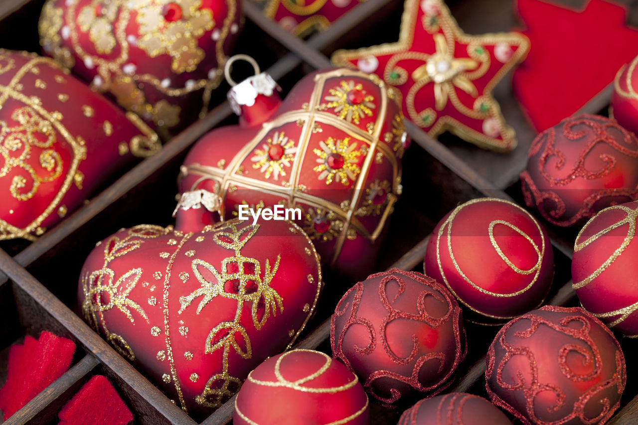
<svg viewBox="0 0 638 425">
<path fill-rule="evenodd" d="M 275 133 L 272 138 L 269 137 L 262 145 L 262 149 L 256 149 L 251 161 L 255 162 L 253 168 L 258 168 L 262 173 L 265 172 L 267 179 L 274 175 L 274 179 L 277 180 L 279 175 L 282 177 L 286 175 L 284 167 L 292 165 L 295 153 L 297 153 L 297 147 L 294 140 L 290 140 L 281 131 L 281 133 Z"/>
</svg>

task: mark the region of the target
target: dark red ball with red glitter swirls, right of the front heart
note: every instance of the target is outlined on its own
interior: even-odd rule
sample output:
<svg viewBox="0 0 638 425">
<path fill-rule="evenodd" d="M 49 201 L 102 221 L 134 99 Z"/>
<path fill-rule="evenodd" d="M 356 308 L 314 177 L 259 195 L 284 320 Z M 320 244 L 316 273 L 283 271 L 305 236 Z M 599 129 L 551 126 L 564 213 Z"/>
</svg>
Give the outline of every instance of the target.
<svg viewBox="0 0 638 425">
<path fill-rule="evenodd" d="M 334 357 L 385 404 L 443 391 L 466 354 L 459 305 L 416 272 L 390 269 L 357 283 L 330 325 Z"/>
</svg>

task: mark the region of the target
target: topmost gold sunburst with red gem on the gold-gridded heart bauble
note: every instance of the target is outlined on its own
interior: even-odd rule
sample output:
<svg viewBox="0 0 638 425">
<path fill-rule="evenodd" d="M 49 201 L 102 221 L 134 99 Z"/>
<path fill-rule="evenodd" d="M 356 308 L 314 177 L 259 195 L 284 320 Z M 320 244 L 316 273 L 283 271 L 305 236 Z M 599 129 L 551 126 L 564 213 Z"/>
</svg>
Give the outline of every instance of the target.
<svg viewBox="0 0 638 425">
<path fill-rule="evenodd" d="M 376 105 L 372 103 L 375 98 L 364 91 L 361 84 L 356 84 L 353 80 L 341 81 L 341 84 L 334 89 L 329 89 L 330 96 L 325 96 L 324 100 L 329 103 L 322 103 L 318 110 L 334 108 L 335 114 L 339 114 L 340 119 L 345 119 L 348 123 L 359 124 L 362 117 L 372 116 L 372 110 Z"/>
</svg>

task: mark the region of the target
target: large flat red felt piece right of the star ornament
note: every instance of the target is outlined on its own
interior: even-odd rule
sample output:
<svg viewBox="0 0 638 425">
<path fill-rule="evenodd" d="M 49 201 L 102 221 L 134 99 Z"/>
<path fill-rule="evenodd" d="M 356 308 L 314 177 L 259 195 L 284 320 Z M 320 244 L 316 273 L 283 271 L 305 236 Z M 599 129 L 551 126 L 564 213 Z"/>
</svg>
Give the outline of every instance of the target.
<svg viewBox="0 0 638 425">
<path fill-rule="evenodd" d="M 627 26 L 618 4 L 591 0 L 579 11 L 517 0 L 516 8 L 531 48 L 512 87 L 538 131 L 577 112 L 638 54 L 638 29 Z"/>
</svg>

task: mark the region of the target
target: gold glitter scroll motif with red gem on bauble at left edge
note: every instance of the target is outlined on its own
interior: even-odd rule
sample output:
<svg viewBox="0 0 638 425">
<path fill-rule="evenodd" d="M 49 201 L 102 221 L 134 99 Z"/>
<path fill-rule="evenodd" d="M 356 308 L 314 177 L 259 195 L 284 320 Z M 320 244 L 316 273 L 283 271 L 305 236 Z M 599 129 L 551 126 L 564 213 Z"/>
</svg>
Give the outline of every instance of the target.
<svg viewBox="0 0 638 425">
<path fill-rule="evenodd" d="M 21 201 L 33 198 L 40 183 L 54 181 L 62 174 L 62 160 L 50 149 L 56 143 L 56 133 L 48 121 L 42 119 L 31 107 L 16 109 L 11 119 L 19 123 L 10 127 L 0 121 L 0 177 L 19 168 L 19 174 L 11 181 L 11 195 Z M 83 151 L 85 154 L 85 150 Z M 28 161 L 38 158 L 41 170 L 35 170 Z"/>
</svg>

